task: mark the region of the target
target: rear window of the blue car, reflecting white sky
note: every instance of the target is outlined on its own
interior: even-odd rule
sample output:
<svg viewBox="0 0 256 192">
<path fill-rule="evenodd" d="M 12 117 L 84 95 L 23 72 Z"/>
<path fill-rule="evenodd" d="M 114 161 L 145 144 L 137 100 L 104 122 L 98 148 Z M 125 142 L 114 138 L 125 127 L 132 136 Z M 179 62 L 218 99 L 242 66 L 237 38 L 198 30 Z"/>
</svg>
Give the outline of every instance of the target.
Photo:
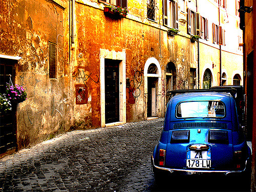
<svg viewBox="0 0 256 192">
<path fill-rule="evenodd" d="M 188 101 L 180 102 L 176 107 L 178 118 L 224 117 L 225 105 L 221 101 Z"/>
</svg>

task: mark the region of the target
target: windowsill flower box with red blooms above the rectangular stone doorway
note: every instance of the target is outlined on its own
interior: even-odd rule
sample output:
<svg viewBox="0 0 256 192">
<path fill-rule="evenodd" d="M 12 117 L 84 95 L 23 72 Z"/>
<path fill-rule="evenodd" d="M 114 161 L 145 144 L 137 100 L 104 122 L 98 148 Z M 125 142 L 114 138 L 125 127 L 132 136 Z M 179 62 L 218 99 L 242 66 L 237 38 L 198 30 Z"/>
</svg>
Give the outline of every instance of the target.
<svg viewBox="0 0 256 192">
<path fill-rule="evenodd" d="M 112 18 L 126 17 L 128 10 L 126 8 L 116 7 L 113 5 L 104 7 L 104 14 Z"/>
</svg>

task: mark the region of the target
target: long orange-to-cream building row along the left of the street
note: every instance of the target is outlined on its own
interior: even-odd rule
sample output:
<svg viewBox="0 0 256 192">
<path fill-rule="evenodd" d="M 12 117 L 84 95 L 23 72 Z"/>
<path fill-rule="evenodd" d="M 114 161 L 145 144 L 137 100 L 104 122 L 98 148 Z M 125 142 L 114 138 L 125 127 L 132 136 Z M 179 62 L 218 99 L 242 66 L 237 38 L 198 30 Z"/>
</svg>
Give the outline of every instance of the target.
<svg viewBox="0 0 256 192">
<path fill-rule="evenodd" d="M 15 112 L 17 148 L 77 127 L 163 117 L 174 89 L 243 84 L 236 5 L 2 1 L 0 64 L 28 93 Z"/>
</svg>

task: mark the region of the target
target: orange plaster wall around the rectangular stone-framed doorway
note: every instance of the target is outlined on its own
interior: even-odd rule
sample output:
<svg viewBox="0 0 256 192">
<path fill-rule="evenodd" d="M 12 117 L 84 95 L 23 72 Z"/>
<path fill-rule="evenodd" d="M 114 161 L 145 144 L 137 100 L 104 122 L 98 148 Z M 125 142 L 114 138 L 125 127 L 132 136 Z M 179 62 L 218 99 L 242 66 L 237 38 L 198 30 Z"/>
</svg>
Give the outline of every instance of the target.
<svg viewBox="0 0 256 192">
<path fill-rule="evenodd" d="M 156 2 L 156 6 L 158 5 Z M 90 5 L 89 5 L 90 4 Z M 176 89 L 188 89 L 190 67 L 197 66 L 197 44 L 190 42 L 186 34 L 185 24 L 182 25 L 183 36 L 169 36 L 166 29 L 159 28 L 158 9 L 156 9 L 156 22 L 146 19 L 146 1 L 138 3 L 129 2 L 130 14 L 127 18 L 113 19 L 104 15 L 103 4 L 87 1 L 76 1 L 76 38 L 73 50 L 74 69 L 71 84 L 86 84 L 88 87 L 88 104 L 75 105 L 74 114 L 77 121 L 90 119 L 92 126 L 100 125 L 99 109 L 99 53 L 100 49 L 126 53 L 126 79 L 130 87 L 126 88 L 126 121 L 139 121 L 145 119 L 146 95 L 144 93 L 144 65 L 148 58 L 156 58 L 161 66 L 161 99 L 157 105 L 159 116 L 164 116 L 165 98 L 165 68 L 168 62 L 175 63 L 177 71 Z M 135 17 L 136 18 L 135 18 Z M 183 15 L 185 19 L 185 15 Z M 160 18 L 161 19 L 161 18 Z M 162 20 L 161 20 L 162 22 Z M 82 55 L 80 57 L 79 55 Z M 192 55 L 192 56 L 191 56 Z M 77 77 L 82 71 L 86 81 Z M 82 77 L 82 76 L 81 76 Z M 133 98 L 131 98 L 133 97 Z M 130 102 L 134 100 L 134 102 Z"/>
</svg>

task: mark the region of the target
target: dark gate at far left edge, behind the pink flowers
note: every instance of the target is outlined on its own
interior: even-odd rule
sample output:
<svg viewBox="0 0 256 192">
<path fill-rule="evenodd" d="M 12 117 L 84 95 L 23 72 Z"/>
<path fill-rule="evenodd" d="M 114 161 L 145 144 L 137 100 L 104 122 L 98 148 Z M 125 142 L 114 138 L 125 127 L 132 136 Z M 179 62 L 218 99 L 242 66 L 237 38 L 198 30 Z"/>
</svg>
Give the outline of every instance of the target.
<svg viewBox="0 0 256 192">
<path fill-rule="evenodd" d="M 14 82 L 14 62 L 12 59 L 0 58 L 0 92 L 6 90 L 6 83 Z M 11 75 L 11 76 L 10 76 Z M 12 105 L 12 111 L 0 114 L 0 157 L 16 150 L 15 127 L 16 106 Z"/>
</svg>

